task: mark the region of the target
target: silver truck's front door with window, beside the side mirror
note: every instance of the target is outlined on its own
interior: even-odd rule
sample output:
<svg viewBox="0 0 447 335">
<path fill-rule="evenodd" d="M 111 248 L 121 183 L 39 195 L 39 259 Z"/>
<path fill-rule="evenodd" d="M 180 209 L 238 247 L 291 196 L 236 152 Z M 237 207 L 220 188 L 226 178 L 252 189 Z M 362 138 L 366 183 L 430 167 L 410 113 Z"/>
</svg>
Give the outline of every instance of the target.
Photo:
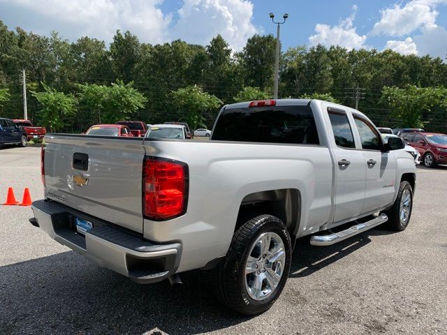
<svg viewBox="0 0 447 335">
<path fill-rule="evenodd" d="M 365 204 L 362 214 L 376 211 L 393 202 L 395 195 L 396 161 L 393 154 L 383 152 L 381 135 L 360 115 L 353 115 L 362 144 L 366 166 Z"/>
</svg>

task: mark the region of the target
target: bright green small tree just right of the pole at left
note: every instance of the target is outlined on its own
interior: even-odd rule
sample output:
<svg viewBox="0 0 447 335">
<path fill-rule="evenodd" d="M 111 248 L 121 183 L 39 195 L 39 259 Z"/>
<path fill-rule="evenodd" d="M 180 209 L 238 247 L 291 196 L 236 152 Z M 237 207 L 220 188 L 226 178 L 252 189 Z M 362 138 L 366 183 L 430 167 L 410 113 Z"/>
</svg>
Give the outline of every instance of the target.
<svg viewBox="0 0 447 335">
<path fill-rule="evenodd" d="M 41 104 L 38 112 L 41 124 L 50 128 L 51 132 L 61 131 L 64 126 L 73 124 L 76 115 L 76 101 L 73 94 L 64 94 L 42 83 L 43 92 L 31 91 L 31 94 Z"/>
</svg>

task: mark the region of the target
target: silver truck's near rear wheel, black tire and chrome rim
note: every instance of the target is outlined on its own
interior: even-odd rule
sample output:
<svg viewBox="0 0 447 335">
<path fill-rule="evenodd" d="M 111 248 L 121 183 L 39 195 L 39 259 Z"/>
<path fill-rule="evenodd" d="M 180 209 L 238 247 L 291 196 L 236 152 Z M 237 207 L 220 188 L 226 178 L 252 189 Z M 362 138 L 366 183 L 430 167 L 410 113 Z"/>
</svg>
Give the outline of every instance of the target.
<svg viewBox="0 0 447 335">
<path fill-rule="evenodd" d="M 244 315 L 267 311 L 281 295 L 291 268 L 291 237 L 279 218 L 260 215 L 233 235 L 217 267 L 217 295 Z"/>
</svg>

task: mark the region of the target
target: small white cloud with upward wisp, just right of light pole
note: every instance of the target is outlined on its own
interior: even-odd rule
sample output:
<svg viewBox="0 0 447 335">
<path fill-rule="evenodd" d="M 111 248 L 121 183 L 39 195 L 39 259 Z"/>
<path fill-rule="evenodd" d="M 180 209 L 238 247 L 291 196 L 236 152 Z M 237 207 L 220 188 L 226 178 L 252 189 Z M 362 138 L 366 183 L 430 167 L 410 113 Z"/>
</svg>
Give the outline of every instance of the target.
<svg viewBox="0 0 447 335">
<path fill-rule="evenodd" d="M 339 22 L 336 26 L 330 27 L 328 24 L 316 24 L 316 34 L 309 37 L 309 42 L 312 45 L 318 45 L 319 43 L 326 46 L 340 45 L 348 50 L 364 47 L 366 36 L 357 34 L 356 27 L 353 27 L 356 13 L 357 6 L 354 5 L 351 16 Z"/>
</svg>

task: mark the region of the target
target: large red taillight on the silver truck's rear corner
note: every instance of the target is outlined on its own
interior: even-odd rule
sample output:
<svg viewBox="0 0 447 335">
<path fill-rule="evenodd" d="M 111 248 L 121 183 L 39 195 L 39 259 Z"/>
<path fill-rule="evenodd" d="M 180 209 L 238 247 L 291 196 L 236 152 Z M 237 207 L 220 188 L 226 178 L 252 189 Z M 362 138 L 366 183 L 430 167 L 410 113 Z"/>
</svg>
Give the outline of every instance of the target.
<svg viewBox="0 0 447 335">
<path fill-rule="evenodd" d="M 184 214 L 188 200 L 188 165 L 146 157 L 142 211 L 146 218 L 168 220 Z"/>
</svg>

